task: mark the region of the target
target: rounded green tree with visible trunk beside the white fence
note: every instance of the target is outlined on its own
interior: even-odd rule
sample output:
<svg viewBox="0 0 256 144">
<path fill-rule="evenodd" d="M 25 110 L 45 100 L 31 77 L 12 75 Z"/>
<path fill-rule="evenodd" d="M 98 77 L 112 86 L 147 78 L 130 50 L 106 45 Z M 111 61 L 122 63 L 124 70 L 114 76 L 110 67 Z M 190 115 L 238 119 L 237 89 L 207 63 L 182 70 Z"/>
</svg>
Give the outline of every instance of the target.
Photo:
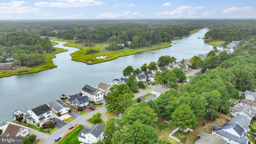
<svg viewBox="0 0 256 144">
<path fill-rule="evenodd" d="M 193 110 L 188 105 L 181 104 L 172 113 L 172 121 L 170 123 L 175 126 L 181 126 L 181 135 L 183 136 L 184 127 L 196 127 L 197 120 Z"/>
</svg>

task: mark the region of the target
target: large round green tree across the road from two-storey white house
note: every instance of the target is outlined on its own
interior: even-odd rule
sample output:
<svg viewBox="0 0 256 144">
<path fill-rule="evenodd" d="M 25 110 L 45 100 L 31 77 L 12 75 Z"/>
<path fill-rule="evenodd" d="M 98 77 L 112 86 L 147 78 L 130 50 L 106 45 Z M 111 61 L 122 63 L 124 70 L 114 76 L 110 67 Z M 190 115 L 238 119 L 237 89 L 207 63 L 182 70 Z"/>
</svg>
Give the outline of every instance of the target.
<svg viewBox="0 0 256 144">
<path fill-rule="evenodd" d="M 106 108 L 115 113 L 123 113 L 129 105 L 133 104 L 132 99 L 135 96 L 127 84 L 114 85 L 108 92 Z"/>
</svg>

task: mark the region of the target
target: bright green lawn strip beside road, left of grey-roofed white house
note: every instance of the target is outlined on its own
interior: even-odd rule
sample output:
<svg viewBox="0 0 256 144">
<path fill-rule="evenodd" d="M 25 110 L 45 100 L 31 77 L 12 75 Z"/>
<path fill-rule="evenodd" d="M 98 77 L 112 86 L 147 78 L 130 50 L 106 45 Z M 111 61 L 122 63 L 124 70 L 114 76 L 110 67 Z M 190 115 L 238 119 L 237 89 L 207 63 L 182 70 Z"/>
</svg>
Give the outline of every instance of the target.
<svg viewBox="0 0 256 144">
<path fill-rule="evenodd" d="M 69 132 L 69 133 L 66 132 L 67 135 L 64 136 L 63 138 L 61 138 L 59 142 L 54 142 L 54 143 L 70 144 L 70 142 L 72 142 L 72 144 L 80 144 L 77 136 L 83 128 L 84 128 L 84 126 L 82 126 L 82 125 L 75 126 L 75 128 L 73 128 L 73 130 L 71 132 Z"/>
</svg>

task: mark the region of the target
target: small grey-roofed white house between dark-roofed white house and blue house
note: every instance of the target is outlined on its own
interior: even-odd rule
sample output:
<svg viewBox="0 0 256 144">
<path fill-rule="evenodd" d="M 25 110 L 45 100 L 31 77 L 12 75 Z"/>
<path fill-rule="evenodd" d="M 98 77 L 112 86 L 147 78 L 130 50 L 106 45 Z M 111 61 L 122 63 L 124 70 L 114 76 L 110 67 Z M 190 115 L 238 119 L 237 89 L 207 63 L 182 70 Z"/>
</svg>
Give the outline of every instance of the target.
<svg viewBox="0 0 256 144">
<path fill-rule="evenodd" d="M 68 110 L 70 110 L 70 107 L 61 100 L 53 100 L 49 103 L 49 106 L 55 114 L 58 112 L 60 112 L 60 114 L 66 114 L 68 113 Z"/>
</svg>

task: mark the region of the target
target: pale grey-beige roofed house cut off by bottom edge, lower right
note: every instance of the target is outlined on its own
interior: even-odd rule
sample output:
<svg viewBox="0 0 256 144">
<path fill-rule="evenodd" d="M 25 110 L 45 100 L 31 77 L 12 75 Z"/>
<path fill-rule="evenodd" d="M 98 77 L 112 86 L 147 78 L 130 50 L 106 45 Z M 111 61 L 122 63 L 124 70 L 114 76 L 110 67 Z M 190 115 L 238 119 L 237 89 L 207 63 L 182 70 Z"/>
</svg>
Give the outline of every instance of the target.
<svg viewBox="0 0 256 144">
<path fill-rule="evenodd" d="M 197 141 L 195 144 L 228 144 L 224 138 L 217 136 L 216 134 L 207 134 L 200 132 L 197 135 Z"/>
</svg>

